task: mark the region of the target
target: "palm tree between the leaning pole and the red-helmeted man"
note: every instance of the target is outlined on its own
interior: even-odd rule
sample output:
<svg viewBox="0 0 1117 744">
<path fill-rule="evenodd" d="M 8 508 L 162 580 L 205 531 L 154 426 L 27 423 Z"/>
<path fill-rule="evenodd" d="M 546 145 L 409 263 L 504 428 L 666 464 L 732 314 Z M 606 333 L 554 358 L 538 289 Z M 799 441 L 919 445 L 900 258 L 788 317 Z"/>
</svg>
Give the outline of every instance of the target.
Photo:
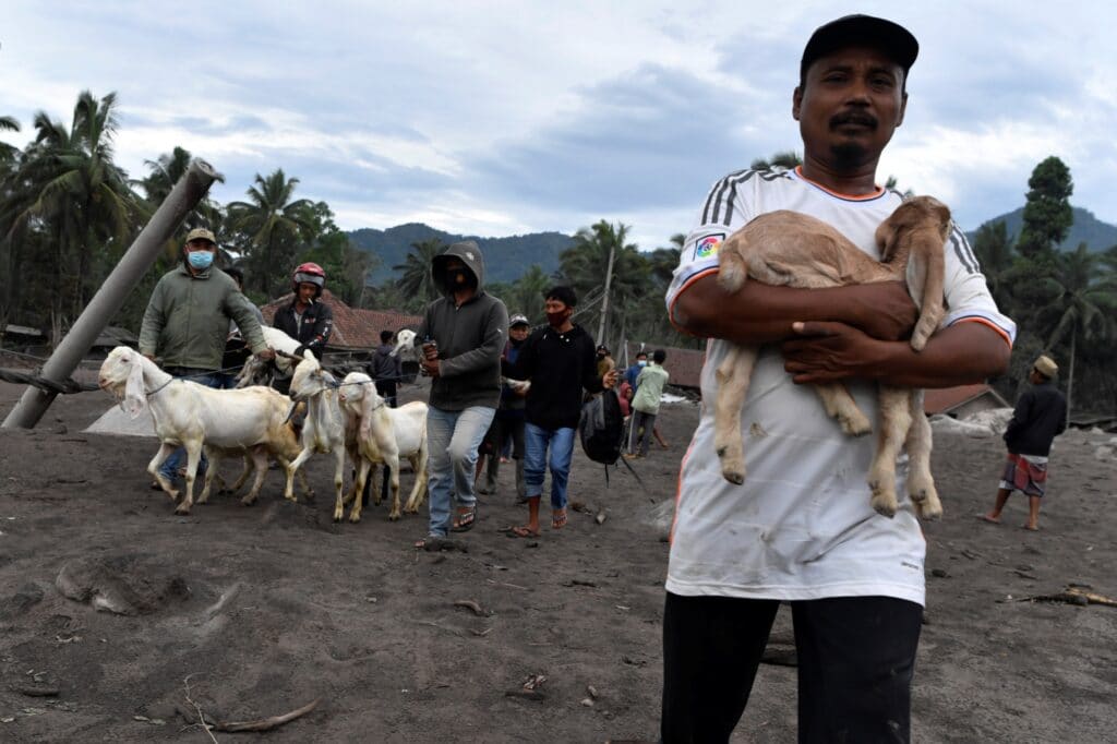
<svg viewBox="0 0 1117 744">
<path fill-rule="evenodd" d="M 238 233 L 252 271 L 249 282 L 266 297 L 271 287 L 289 270 L 299 239 L 309 240 L 314 204 L 308 199 L 293 200 L 298 179 L 288 179 L 283 169 L 267 178 L 256 174 L 248 201 L 228 206 L 229 231 Z"/>
</svg>

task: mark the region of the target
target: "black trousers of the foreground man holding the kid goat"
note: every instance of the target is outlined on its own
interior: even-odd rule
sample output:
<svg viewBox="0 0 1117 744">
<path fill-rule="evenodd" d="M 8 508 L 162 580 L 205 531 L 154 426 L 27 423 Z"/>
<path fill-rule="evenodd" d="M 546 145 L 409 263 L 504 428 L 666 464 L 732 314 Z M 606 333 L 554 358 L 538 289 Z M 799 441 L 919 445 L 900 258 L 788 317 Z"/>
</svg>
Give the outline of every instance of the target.
<svg viewBox="0 0 1117 744">
<path fill-rule="evenodd" d="M 890 597 L 790 602 L 799 741 L 907 742 L 923 609 Z M 663 744 L 728 742 L 748 703 L 780 602 L 668 592 Z"/>
</svg>

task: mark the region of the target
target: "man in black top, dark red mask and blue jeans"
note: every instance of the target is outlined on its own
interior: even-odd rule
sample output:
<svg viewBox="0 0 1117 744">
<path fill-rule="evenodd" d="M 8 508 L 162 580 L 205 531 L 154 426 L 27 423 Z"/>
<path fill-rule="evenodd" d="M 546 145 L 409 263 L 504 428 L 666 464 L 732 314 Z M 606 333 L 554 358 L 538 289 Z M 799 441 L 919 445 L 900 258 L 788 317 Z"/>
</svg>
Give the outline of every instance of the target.
<svg viewBox="0 0 1117 744">
<path fill-rule="evenodd" d="M 532 382 L 527 391 L 524 431 L 528 516 L 525 526 L 512 527 L 510 534 L 517 537 L 540 534 L 540 499 L 544 470 L 548 466 L 551 527 L 561 530 L 566 525 L 566 484 L 574 454 L 574 433 L 582 412 L 582 390 L 595 393 L 617 384 L 615 370 L 598 376 L 593 337 L 571 322 L 576 304 L 577 298 L 570 287 L 550 289 L 544 305 L 547 325 L 527 337 L 515 364 L 505 365 L 508 378 Z"/>
</svg>

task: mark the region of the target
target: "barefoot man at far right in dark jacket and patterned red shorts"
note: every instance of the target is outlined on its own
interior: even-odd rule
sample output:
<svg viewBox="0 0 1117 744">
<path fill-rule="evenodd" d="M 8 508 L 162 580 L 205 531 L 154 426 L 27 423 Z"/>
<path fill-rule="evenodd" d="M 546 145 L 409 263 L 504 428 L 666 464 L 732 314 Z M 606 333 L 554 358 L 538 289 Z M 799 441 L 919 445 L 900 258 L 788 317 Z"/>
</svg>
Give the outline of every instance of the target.
<svg viewBox="0 0 1117 744">
<path fill-rule="evenodd" d="M 1059 365 L 1046 354 L 1035 360 L 1028 375 L 1032 387 L 1016 401 L 1012 420 L 1004 431 L 1009 459 L 1001 476 L 993 511 L 982 516 L 999 524 L 1001 512 L 1014 490 L 1028 496 L 1028 522 L 1024 530 L 1040 528 L 1040 499 L 1047 486 L 1048 455 L 1051 441 L 1067 428 L 1067 399 L 1054 387 Z"/>
</svg>

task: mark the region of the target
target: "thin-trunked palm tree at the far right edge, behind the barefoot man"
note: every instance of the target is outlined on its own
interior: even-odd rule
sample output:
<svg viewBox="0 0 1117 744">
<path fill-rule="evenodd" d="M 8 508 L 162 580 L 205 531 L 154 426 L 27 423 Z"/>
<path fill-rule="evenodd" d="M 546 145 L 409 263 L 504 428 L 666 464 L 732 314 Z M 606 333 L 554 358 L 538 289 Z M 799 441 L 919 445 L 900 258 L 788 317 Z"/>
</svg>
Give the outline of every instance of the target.
<svg viewBox="0 0 1117 744">
<path fill-rule="evenodd" d="M 1067 420 L 1070 421 L 1071 391 L 1075 382 L 1075 357 L 1078 340 L 1108 340 L 1114 336 L 1114 313 L 1117 312 L 1117 283 L 1111 275 L 1097 277 L 1094 270 L 1098 257 L 1086 244 L 1070 254 L 1056 254 L 1056 275 L 1043 282 L 1044 294 L 1051 299 L 1040 308 L 1041 327 L 1051 328 L 1048 349 L 1070 340 L 1070 364 L 1067 373 Z"/>
</svg>

